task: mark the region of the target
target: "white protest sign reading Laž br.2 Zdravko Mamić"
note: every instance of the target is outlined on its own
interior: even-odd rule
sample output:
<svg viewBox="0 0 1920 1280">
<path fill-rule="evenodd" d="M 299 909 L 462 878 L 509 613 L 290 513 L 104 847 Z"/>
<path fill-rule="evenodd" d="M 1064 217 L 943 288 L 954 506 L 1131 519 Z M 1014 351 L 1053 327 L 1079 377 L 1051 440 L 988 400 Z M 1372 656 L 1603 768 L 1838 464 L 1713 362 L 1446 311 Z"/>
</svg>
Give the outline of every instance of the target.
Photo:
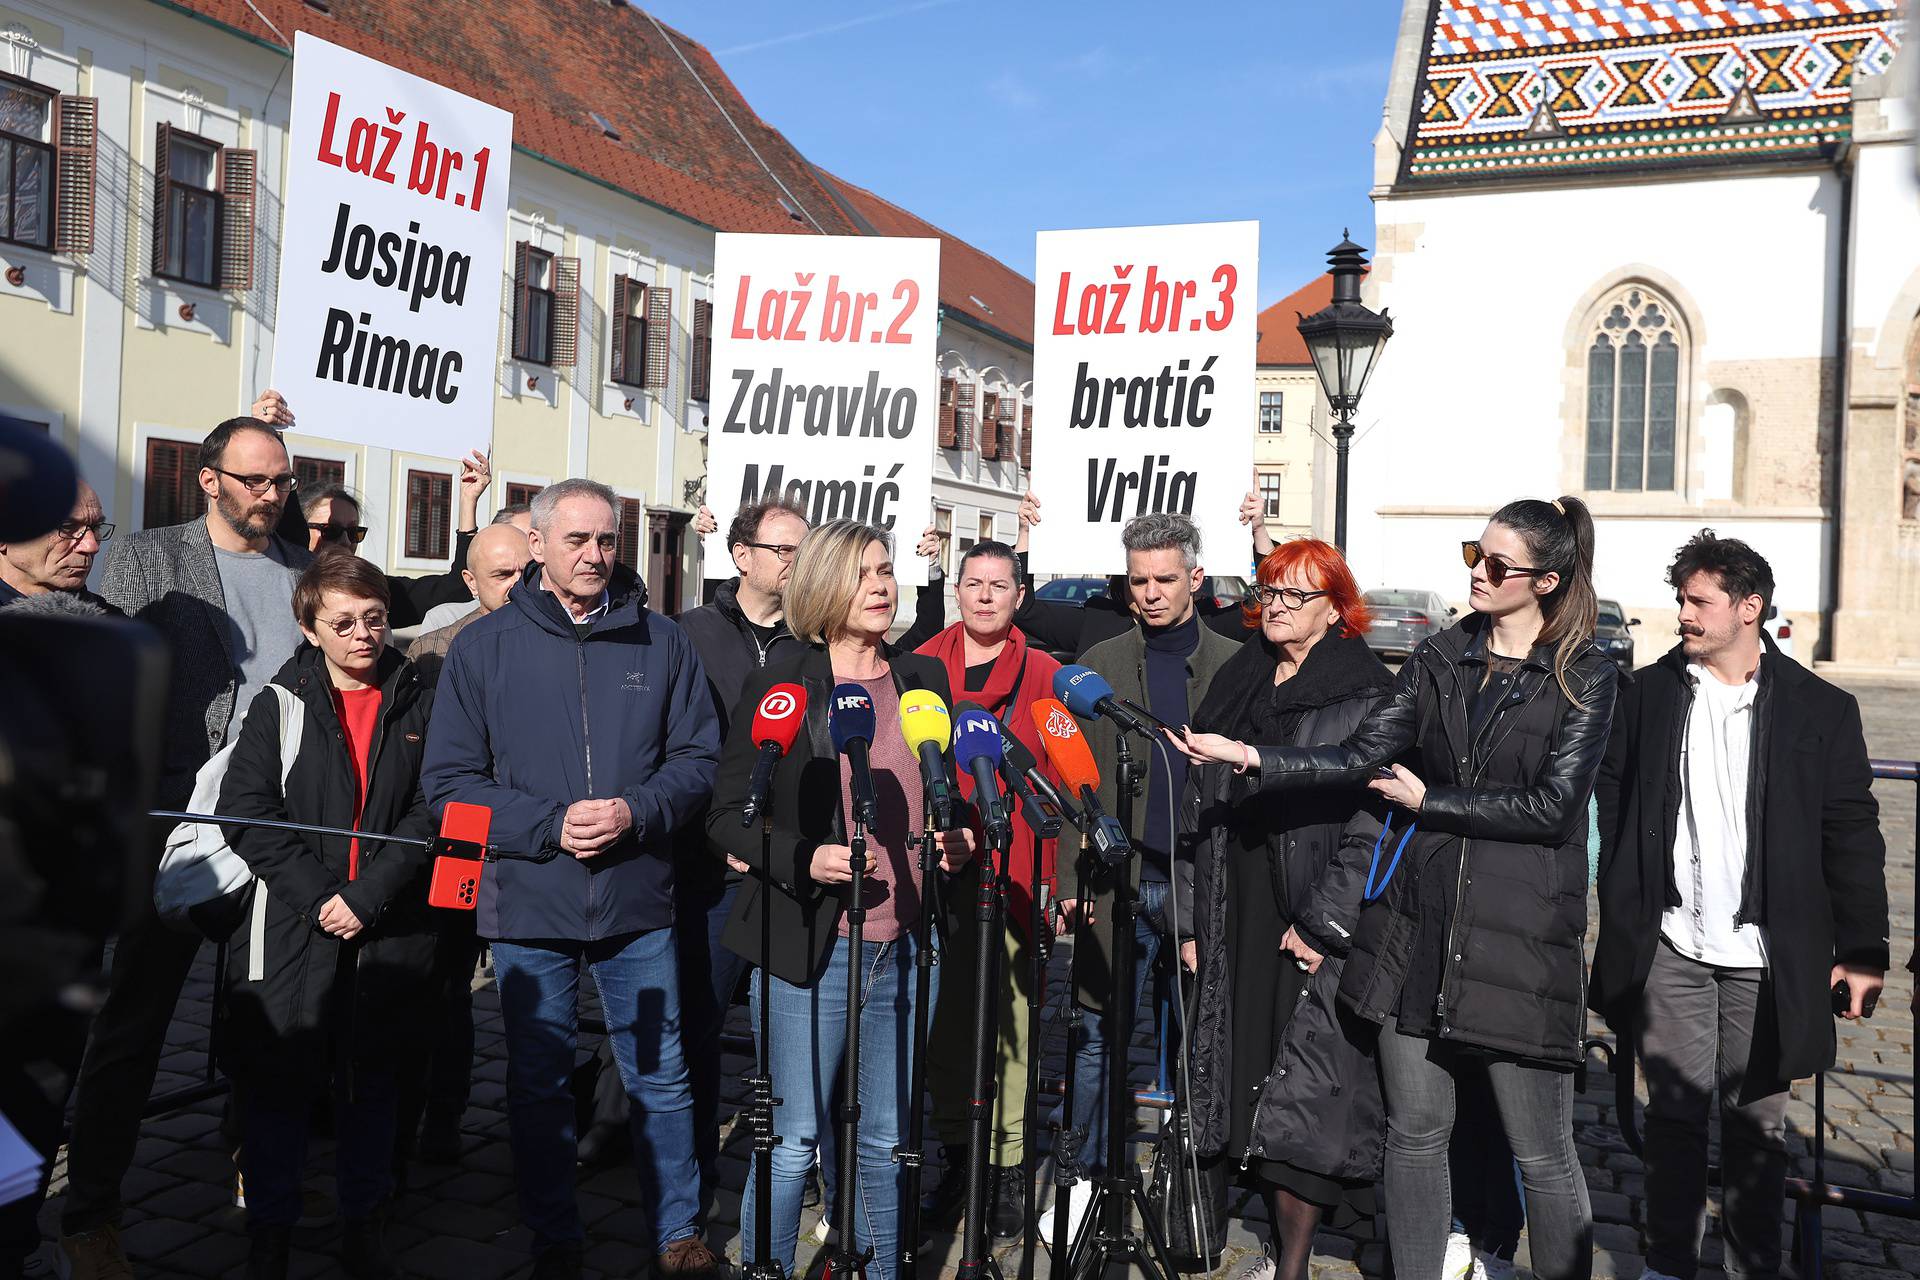
<svg viewBox="0 0 1920 1280">
<path fill-rule="evenodd" d="M 939 286 L 939 240 L 714 236 L 708 578 L 735 572 L 733 509 L 785 497 L 808 524 L 889 530 L 900 581 L 927 580 Z"/>
</svg>

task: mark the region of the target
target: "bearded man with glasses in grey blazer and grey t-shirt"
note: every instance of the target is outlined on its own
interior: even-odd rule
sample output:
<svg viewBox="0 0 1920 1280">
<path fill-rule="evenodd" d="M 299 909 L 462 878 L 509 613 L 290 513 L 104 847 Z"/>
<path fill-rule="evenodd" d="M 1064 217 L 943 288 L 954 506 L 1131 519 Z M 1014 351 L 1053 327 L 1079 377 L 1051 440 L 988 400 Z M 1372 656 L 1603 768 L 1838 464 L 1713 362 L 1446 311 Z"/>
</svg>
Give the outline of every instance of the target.
<svg viewBox="0 0 1920 1280">
<path fill-rule="evenodd" d="M 253 695 L 300 645 L 294 581 L 313 560 L 275 535 L 294 491 L 280 436 L 228 418 L 200 445 L 207 514 L 113 543 L 100 593 L 152 626 L 173 652 L 156 808 L 182 808 L 194 773 Z M 165 835 L 156 829 L 156 844 Z M 156 852 L 157 858 L 157 852 Z M 148 912 L 113 944 L 108 998 L 94 1019 L 73 1098 L 61 1247 L 75 1280 L 131 1276 L 119 1244 L 121 1178 L 200 938 Z"/>
</svg>

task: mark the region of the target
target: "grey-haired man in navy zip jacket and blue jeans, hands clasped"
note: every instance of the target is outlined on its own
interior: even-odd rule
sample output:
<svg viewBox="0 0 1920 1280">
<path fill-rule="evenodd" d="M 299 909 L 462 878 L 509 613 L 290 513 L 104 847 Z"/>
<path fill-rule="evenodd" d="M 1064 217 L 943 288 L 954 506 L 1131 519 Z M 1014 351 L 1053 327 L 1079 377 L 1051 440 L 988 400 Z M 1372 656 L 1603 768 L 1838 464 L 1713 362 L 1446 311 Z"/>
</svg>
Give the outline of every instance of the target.
<svg viewBox="0 0 1920 1280">
<path fill-rule="evenodd" d="M 588 965 L 632 1100 L 659 1274 L 705 1280 L 724 1263 L 695 1222 L 672 837 L 707 806 L 720 727 L 693 645 L 616 572 L 612 491 L 563 480 L 532 518 L 520 587 L 447 651 L 420 785 L 434 808 L 493 812 L 476 923 L 493 942 L 534 1276 L 580 1274 L 568 1075 Z"/>
</svg>

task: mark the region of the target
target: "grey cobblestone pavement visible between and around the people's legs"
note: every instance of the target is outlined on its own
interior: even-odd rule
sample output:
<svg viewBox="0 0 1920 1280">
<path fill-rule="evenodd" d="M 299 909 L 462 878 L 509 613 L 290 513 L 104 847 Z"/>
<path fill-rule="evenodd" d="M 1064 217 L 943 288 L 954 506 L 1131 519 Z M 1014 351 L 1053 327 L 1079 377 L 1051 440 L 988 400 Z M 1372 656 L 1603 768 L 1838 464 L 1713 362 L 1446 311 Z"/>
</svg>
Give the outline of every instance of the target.
<svg viewBox="0 0 1920 1280">
<path fill-rule="evenodd" d="M 1880 758 L 1920 758 L 1920 689 L 1880 689 L 1857 685 L 1866 718 L 1868 748 Z M 1914 938 L 1914 785 L 1876 783 L 1882 823 L 1887 835 L 1887 879 L 1893 898 L 1895 965 L 1903 965 Z M 1058 992 L 1058 981 L 1054 984 Z M 1841 1027 L 1839 1067 L 1826 1090 L 1826 1176 L 1853 1188 L 1872 1188 L 1910 1196 L 1914 1190 L 1914 1021 L 1910 975 L 1895 969 L 1880 1015 L 1860 1027 Z M 205 1032 L 211 1011 L 211 948 L 202 954 L 186 996 L 173 1023 L 169 1050 L 156 1092 L 192 1084 L 205 1065 Z M 1060 1036 L 1052 1034 L 1058 998 L 1048 1009 L 1046 1075 L 1060 1077 Z M 516 1222 L 513 1199 L 513 1161 L 507 1151 L 505 1044 L 499 1004 L 492 988 L 476 992 L 476 1065 L 472 1105 L 465 1119 L 467 1150 L 459 1165 L 417 1163 L 411 1184 L 397 1201 L 392 1238 L 409 1274 L 444 1280 L 495 1280 L 526 1268 L 526 1232 Z M 745 1032 L 745 1007 L 733 1011 L 733 1031 Z M 1605 1036 L 1596 1019 L 1592 1034 Z M 749 1069 L 745 1055 L 726 1061 L 728 1109 L 741 1102 L 739 1077 Z M 1152 1052 L 1144 1038 L 1135 1046 L 1135 1075 L 1152 1075 Z M 1645 1098 L 1642 1090 L 1642 1100 Z M 1788 1113 L 1793 1173 L 1812 1176 L 1814 1138 L 1812 1082 L 1795 1088 Z M 238 1274 L 246 1257 L 244 1215 L 232 1207 L 232 1161 L 219 1138 L 221 1100 L 207 1100 L 157 1117 L 146 1125 L 134 1169 L 127 1178 L 125 1244 L 142 1276 L 227 1276 Z M 1142 1111 L 1142 1128 L 1156 1125 Z M 1613 1079 L 1597 1065 L 1574 1105 L 1580 1157 L 1594 1199 L 1594 1249 L 1597 1276 L 1632 1278 L 1644 1270 L 1640 1228 L 1645 1221 L 1640 1161 L 1620 1136 L 1615 1113 Z M 724 1186 L 712 1205 L 710 1238 L 737 1255 L 735 1222 L 739 1188 L 745 1180 L 745 1125 L 726 1134 Z M 1142 1144 L 1144 1153 L 1144 1144 Z M 315 1142 L 309 1184 L 321 1196 L 332 1190 L 330 1144 Z M 929 1182 L 937 1171 L 929 1169 Z M 56 1222 L 60 1192 L 65 1186 L 63 1161 L 56 1167 L 54 1196 L 42 1217 Z M 1267 1238 L 1258 1197 L 1233 1194 L 1235 1221 L 1219 1274 L 1231 1274 Z M 632 1169 L 584 1174 L 580 1207 L 588 1224 L 589 1276 L 636 1276 L 651 1267 L 643 1207 Z M 1782 1232 L 1789 1232 L 1791 1209 L 1782 1207 Z M 1893 1280 L 1920 1274 L 1920 1222 L 1876 1213 L 1828 1207 L 1824 1211 L 1826 1274 L 1834 1280 Z M 803 1259 L 810 1257 L 806 1234 L 814 1215 L 803 1219 Z M 334 1274 L 332 1230 L 296 1234 L 300 1253 L 296 1276 Z M 960 1247 L 954 1238 L 937 1238 L 927 1265 L 943 1276 L 954 1272 Z M 998 1251 L 1002 1268 L 1018 1268 L 1018 1244 Z M 1709 1238 L 1707 1261 L 1716 1265 L 1720 1245 Z M 1380 1274 L 1384 1245 L 1371 1236 L 1321 1232 L 1313 1276 L 1350 1278 Z M 1526 1245 L 1519 1263 L 1526 1267 Z M 1039 1270 L 1048 1270 L 1048 1255 L 1039 1255 Z M 1705 1272 L 1715 1274 L 1715 1272 Z"/>
</svg>

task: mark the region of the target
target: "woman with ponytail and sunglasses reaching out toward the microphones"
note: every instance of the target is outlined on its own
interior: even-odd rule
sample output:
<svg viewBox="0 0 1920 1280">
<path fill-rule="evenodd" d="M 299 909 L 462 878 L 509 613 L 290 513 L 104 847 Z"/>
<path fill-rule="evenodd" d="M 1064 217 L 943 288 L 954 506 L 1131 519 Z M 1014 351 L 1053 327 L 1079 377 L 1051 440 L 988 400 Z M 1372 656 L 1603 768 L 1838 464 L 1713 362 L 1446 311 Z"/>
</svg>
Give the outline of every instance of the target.
<svg viewBox="0 0 1920 1280">
<path fill-rule="evenodd" d="M 1407 658 L 1338 747 L 1212 733 L 1181 745 L 1258 770 L 1263 791 L 1371 779 L 1396 825 L 1413 825 L 1386 910 L 1363 913 L 1340 979 L 1342 1004 L 1380 1023 L 1396 1270 L 1440 1270 L 1453 1077 L 1480 1065 L 1521 1163 L 1532 1268 L 1584 1280 L 1592 1219 L 1572 1071 L 1586 1027 L 1586 808 L 1617 679 L 1592 643 L 1594 520 L 1574 497 L 1521 499 L 1461 557 L 1473 610 Z"/>
</svg>

